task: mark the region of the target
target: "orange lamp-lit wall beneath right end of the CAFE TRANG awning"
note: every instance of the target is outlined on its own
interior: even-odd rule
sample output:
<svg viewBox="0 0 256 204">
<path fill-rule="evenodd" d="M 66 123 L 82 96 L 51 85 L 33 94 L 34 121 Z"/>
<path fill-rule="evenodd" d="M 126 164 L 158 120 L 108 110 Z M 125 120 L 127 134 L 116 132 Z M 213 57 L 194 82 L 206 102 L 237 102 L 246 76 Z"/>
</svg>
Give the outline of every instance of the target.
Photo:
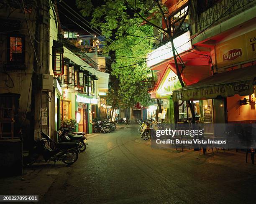
<svg viewBox="0 0 256 204">
<path fill-rule="evenodd" d="M 256 120 L 255 102 L 240 106 L 239 100 L 243 100 L 243 98 L 248 100 L 248 96 L 239 96 L 238 94 L 227 98 L 228 122 Z"/>
</svg>

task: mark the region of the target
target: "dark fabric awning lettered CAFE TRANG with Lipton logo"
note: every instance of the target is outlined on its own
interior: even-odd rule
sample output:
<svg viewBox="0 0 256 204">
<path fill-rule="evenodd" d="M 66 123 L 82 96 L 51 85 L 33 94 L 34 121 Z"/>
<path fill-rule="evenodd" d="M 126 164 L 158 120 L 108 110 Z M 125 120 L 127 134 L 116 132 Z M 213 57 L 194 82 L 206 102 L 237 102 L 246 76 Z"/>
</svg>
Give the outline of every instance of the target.
<svg viewBox="0 0 256 204">
<path fill-rule="evenodd" d="M 173 91 L 173 101 L 200 100 L 230 97 L 235 94 L 248 96 L 253 93 L 256 66 L 218 73 L 189 86 Z"/>
</svg>

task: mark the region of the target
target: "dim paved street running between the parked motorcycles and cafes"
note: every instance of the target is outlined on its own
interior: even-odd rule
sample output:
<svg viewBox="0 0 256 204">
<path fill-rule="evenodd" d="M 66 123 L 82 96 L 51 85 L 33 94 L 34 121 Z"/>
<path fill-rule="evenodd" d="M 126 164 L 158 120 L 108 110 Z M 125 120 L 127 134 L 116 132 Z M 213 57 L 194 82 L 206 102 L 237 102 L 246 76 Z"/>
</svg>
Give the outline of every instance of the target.
<svg viewBox="0 0 256 204">
<path fill-rule="evenodd" d="M 244 153 L 152 149 L 137 126 L 91 137 L 59 175 L 42 204 L 255 203 L 256 168 Z"/>
</svg>

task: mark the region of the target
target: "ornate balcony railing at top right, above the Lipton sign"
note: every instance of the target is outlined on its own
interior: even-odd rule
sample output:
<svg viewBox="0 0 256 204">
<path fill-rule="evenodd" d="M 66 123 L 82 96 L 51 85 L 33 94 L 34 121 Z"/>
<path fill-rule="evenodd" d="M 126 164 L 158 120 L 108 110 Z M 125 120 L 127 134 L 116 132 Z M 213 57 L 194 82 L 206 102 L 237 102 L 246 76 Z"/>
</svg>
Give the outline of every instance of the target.
<svg viewBox="0 0 256 204">
<path fill-rule="evenodd" d="M 255 5 L 256 0 L 200 0 L 197 3 L 199 17 L 195 26 L 195 33 L 214 23 L 220 23 L 221 19 L 225 17 L 231 18 L 241 13 L 251 5 Z"/>
</svg>

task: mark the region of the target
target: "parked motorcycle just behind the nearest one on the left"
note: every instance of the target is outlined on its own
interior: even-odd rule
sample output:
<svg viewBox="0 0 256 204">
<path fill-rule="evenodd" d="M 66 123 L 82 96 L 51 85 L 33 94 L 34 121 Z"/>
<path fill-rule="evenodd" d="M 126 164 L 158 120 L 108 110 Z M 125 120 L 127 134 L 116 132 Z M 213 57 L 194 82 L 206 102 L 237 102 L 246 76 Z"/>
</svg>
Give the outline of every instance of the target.
<svg viewBox="0 0 256 204">
<path fill-rule="evenodd" d="M 70 131 L 72 131 L 73 128 L 60 128 L 59 129 L 59 142 L 68 142 L 68 141 L 78 141 L 79 143 L 79 151 L 85 151 L 86 149 L 86 145 L 88 145 L 87 143 L 87 138 L 85 137 L 85 133 L 84 132 L 73 132 L 70 133 Z M 84 142 L 84 140 L 86 142 Z"/>
</svg>

